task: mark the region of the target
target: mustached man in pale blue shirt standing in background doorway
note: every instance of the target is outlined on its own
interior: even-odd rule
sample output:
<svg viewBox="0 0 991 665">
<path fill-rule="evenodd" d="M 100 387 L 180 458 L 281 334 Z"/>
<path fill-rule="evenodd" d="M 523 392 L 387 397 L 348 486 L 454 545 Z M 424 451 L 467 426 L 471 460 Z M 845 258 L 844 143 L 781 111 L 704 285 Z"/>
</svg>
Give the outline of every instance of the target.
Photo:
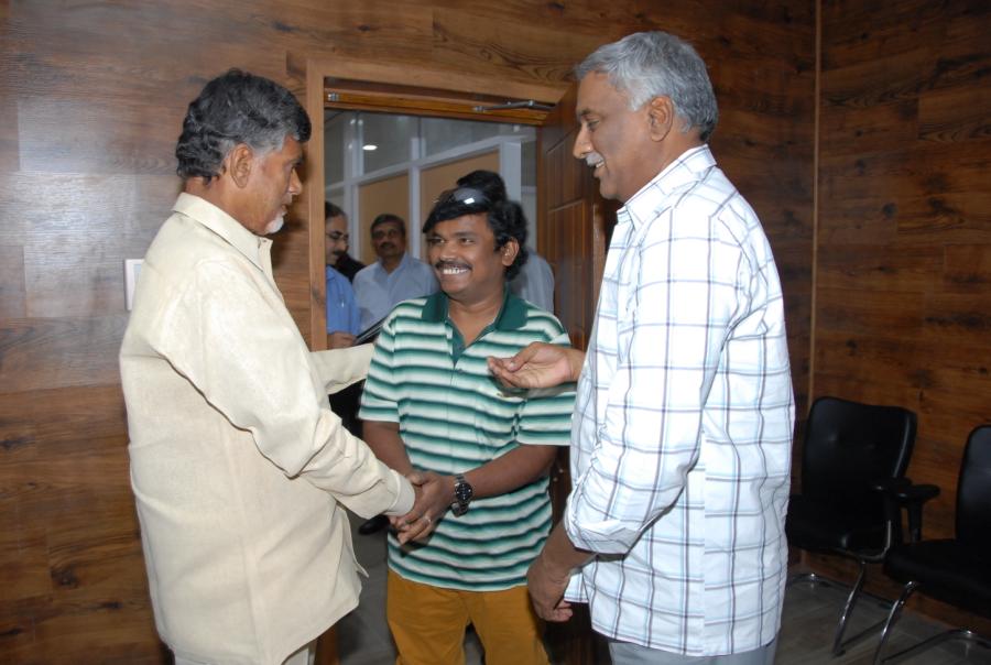
<svg viewBox="0 0 991 665">
<path fill-rule="evenodd" d="M 371 225 L 372 247 L 378 261 L 355 275 L 355 296 L 361 312 L 361 329 L 367 330 L 402 301 L 437 291 L 434 271 L 406 253 L 406 222 L 385 212 Z"/>
</svg>

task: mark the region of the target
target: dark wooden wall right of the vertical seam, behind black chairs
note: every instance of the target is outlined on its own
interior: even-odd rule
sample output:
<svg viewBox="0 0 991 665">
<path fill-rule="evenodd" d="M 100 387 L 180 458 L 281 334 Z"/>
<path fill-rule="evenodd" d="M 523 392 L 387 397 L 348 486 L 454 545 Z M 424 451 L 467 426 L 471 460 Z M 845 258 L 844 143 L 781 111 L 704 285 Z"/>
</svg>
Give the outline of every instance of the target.
<svg viewBox="0 0 991 665">
<path fill-rule="evenodd" d="M 814 392 L 918 414 L 908 475 L 943 488 L 924 535 L 950 536 L 963 444 L 991 423 L 991 6 L 821 8 Z"/>
</svg>

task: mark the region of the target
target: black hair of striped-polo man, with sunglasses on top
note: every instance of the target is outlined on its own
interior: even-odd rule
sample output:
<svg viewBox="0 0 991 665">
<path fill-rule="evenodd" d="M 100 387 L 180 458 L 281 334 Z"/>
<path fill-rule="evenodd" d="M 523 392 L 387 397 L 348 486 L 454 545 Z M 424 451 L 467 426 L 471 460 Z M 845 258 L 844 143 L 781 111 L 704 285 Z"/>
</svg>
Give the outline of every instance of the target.
<svg viewBox="0 0 991 665">
<path fill-rule="evenodd" d="M 460 182 L 458 181 L 458 183 Z M 520 269 L 526 263 L 529 257 L 526 252 L 526 216 L 523 215 L 523 207 L 520 204 L 505 200 L 505 198 L 492 200 L 482 189 L 459 187 L 440 195 L 426 221 L 423 222 L 423 232 L 429 233 L 442 221 L 449 221 L 465 215 L 480 214 L 486 216 L 489 229 L 496 237 L 497 251 L 505 247 L 510 240 L 515 240 L 520 246 L 516 259 L 512 265 L 505 269 L 505 279 L 512 280 L 520 273 Z"/>
</svg>

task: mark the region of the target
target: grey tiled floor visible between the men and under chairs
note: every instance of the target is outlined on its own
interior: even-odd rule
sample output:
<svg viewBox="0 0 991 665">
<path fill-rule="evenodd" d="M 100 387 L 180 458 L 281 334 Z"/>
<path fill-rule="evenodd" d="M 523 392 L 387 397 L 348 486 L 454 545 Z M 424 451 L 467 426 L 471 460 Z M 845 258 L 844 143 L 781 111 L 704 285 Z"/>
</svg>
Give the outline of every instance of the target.
<svg viewBox="0 0 991 665">
<path fill-rule="evenodd" d="M 362 520 L 351 515 L 355 550 L 368 570 L 357 610 L 338 623 L 338 648 L 341 665 L 389 665 L 395 650 L 385 624 L 385 535 L 358 535 Z M 840 657 L 832 658 L 829 648 L 832 631 L 842 611 L 847 591 L 841 588 L 793 585 L 785 597 L 782 630 L 778 635 L 777 665 L 870 665 L 876 637 L 870 637 Z M 848 635 L 883 619 L 886 609 L 864 598 L 856 608 Z M 885 653 L 894 653 L 944 630 L 935 622 L 906 613 L 896 626 Z M 968 653 L 969 652 L 969 653 Z M 481 650 L 473 634 L 466 640 L 466 665 L 481 665 Z M 911 665 L 991 665 L 991 650 L 960 643 L 947 643 L 908 661 Z M 605 664 L 603 664 L 605 665 Z"/>
</svg>

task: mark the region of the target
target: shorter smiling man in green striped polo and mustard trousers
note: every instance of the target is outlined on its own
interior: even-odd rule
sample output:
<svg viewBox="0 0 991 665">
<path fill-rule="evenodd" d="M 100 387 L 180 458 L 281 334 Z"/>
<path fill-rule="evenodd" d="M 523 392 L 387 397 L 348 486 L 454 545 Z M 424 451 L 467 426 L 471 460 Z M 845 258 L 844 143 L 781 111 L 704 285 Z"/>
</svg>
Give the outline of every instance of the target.
<svg viewBox="0 0 991 665">
<path fill-rule="evenodd" d="M 574 385 L 507 390 L 486 359 L 568 337 L 505 286 L 526 260 L 518 204 L 454 189 L 423 230 L 442 291 L 386 318 L 360 413 L 375 455 L 422 490 L 389 536 L 399 662 L 464 663 L 473 623 L 489 665 L 546 664 L 526 569 L 549 532 L 547 473 L 569 443 Z"/>
</svg>

